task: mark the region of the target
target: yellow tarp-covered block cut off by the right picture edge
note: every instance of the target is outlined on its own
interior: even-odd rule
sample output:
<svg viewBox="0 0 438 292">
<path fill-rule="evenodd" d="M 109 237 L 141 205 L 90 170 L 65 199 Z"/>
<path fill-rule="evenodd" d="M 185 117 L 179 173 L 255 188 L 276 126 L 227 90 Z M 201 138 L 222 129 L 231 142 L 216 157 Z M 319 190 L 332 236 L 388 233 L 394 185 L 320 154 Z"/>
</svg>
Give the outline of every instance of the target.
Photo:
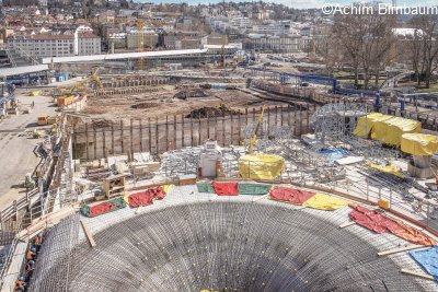
<svg viewBox="0 0 438 292">
<path fill-rule="evenodd" d="M 438 136 L 404 133 L 402 135 L 402 151 L 413 155 L 434 155 L 438 153 Z"/>
</svg>

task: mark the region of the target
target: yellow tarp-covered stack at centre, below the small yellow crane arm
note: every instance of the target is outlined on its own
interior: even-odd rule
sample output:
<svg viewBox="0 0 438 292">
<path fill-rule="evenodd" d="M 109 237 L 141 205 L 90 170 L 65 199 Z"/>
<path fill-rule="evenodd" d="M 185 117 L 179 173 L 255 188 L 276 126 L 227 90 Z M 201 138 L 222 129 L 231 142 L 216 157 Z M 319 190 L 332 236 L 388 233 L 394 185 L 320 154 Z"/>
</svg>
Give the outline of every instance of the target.
<svg viewBox="0 0 438 292">
<path fill-rule="evenodd" d="M 273 154 L 247 154 L 239 159 L 239 172 L 243 178 L 275 179 L 285 167 L 285 160 Z"/>
</svg>

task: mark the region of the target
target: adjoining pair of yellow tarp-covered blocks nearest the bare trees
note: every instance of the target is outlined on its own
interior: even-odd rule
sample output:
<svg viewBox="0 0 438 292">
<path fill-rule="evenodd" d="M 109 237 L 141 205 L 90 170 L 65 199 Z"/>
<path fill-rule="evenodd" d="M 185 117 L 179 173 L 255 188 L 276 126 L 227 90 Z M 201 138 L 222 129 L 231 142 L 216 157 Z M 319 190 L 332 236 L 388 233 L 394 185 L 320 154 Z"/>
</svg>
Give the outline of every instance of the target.
<svg viewBox="0 0 438 292">
<path fill-rule="evenodd" d="M 400 147 L 403 133 L 420 130 L 422 122 L 417 120 L 372 113 L 358 119 L 354 133 L 360 138 L 370 136 L 384 144 Z"/>
</svg>

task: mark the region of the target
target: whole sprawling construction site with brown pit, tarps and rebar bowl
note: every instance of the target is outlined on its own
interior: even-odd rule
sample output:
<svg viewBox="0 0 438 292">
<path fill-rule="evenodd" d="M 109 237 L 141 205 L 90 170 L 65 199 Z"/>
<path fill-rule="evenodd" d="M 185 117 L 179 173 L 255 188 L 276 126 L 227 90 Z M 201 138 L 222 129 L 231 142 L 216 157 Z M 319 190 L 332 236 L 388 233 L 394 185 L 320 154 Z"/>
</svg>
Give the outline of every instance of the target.
<svg viewBox="0 0 438 292">
<path fill-rule="evenodd" d="M 257 67 L 94 68 L 8 102 L 53 110 L 0 212 L 1 291 L 438 291 L 436 107 Z"/>
</svg>

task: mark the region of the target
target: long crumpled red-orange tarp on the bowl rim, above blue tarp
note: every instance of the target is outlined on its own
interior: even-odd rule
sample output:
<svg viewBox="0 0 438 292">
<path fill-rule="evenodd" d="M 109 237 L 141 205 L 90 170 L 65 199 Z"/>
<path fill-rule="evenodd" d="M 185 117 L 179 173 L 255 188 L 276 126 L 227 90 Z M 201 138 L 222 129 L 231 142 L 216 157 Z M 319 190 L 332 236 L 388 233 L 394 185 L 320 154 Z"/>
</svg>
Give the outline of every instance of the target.
<svg viewBox="0 0 438 292">
<path fill-rule="evenodd" d="M 437 245 L 437 242 L 425 233 L 406 225 L 404 222 L 369 210 L 365 207 L 356 206 L 349 217 L 357 224 L 362 225 L 376 233 L 392 233 L 403 240 L 419 245 Z"/>
</svg>

